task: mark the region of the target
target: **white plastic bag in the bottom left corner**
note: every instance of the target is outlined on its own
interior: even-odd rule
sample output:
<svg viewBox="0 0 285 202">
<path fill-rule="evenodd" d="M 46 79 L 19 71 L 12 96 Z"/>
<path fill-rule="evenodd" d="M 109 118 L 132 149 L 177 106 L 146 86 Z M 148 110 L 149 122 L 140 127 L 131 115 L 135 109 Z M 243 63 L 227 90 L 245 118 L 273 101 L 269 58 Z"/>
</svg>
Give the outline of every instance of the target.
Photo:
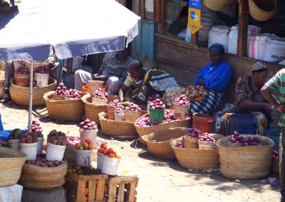
<svg viewBox="0 0 285 202">
<path fill-rule="evenodd" d="M 0 187 L 1 202 L 21 202 L 23 186 L 15 184 L 13 186 Z"/>
</svg>

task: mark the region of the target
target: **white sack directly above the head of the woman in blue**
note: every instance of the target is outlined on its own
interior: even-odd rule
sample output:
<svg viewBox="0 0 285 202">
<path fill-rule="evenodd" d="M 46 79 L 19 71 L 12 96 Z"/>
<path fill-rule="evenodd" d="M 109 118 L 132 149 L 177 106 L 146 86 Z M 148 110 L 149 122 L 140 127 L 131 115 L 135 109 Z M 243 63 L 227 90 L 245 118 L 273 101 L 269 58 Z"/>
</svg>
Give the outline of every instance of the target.
<svg viewBox="0 0 285 202">
<path fill-rule="evenodd" d="M 208 48 L 214 43 L 219 43 L 224 46 L 224 50 L 227 52 L 229 43 L 229 27 L 212 26 L 211 30 L 209 31 Z"/>
</svg>

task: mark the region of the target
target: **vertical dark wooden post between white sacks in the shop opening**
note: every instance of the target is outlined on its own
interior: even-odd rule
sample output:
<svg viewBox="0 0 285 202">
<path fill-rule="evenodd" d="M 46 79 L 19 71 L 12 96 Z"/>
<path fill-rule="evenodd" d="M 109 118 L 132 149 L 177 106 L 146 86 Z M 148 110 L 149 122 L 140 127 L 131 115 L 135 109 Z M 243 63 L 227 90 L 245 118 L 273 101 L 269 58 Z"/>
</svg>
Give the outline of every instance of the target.
<svg viewBox="0 0 285 202">
<path fill-rule="evenodd" d="M 247 55 L 247 28 L 249 22 L 249 2 L 239 1 L 239 29 L 237 38 L 237 57 L 243 58 Z"/>
</svg>

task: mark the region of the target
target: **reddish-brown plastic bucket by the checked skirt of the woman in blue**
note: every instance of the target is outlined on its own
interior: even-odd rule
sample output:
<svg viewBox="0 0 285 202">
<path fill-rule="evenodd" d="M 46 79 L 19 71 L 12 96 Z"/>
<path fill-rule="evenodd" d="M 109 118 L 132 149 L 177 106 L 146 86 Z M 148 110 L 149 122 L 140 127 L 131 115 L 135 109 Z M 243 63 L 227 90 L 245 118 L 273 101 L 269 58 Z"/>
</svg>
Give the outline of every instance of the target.
<svg viewBox="0 0 285 202">
<path fill-rule="evenodd" d="M 201 133 L 214 133 L 216 119 L 207 114 L 193 114 L 192 127 L 199 129 Z"/>
</svg>

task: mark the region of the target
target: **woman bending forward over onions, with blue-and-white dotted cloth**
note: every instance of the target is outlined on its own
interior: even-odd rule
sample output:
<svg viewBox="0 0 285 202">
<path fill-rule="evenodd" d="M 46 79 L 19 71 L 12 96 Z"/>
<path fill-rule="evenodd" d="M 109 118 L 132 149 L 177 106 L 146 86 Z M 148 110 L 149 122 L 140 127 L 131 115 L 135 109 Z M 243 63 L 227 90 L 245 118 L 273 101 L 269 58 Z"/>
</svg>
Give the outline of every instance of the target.
<svg viewBox="0 0 285 202">
<path fill-rule="evenodd" d="M 124 100 L 124 93 L 133 87 L 132 98 L 138 104 L 147 101 L 147 97 L 156 93 L 163 95 L 169 87 L 179 87 L 175 78 L 162 70 L 142 69 L 142 63 L 133 60 L 128 66 L 129 75 L 120 87 L 120 102 Z"/>
</svg>

